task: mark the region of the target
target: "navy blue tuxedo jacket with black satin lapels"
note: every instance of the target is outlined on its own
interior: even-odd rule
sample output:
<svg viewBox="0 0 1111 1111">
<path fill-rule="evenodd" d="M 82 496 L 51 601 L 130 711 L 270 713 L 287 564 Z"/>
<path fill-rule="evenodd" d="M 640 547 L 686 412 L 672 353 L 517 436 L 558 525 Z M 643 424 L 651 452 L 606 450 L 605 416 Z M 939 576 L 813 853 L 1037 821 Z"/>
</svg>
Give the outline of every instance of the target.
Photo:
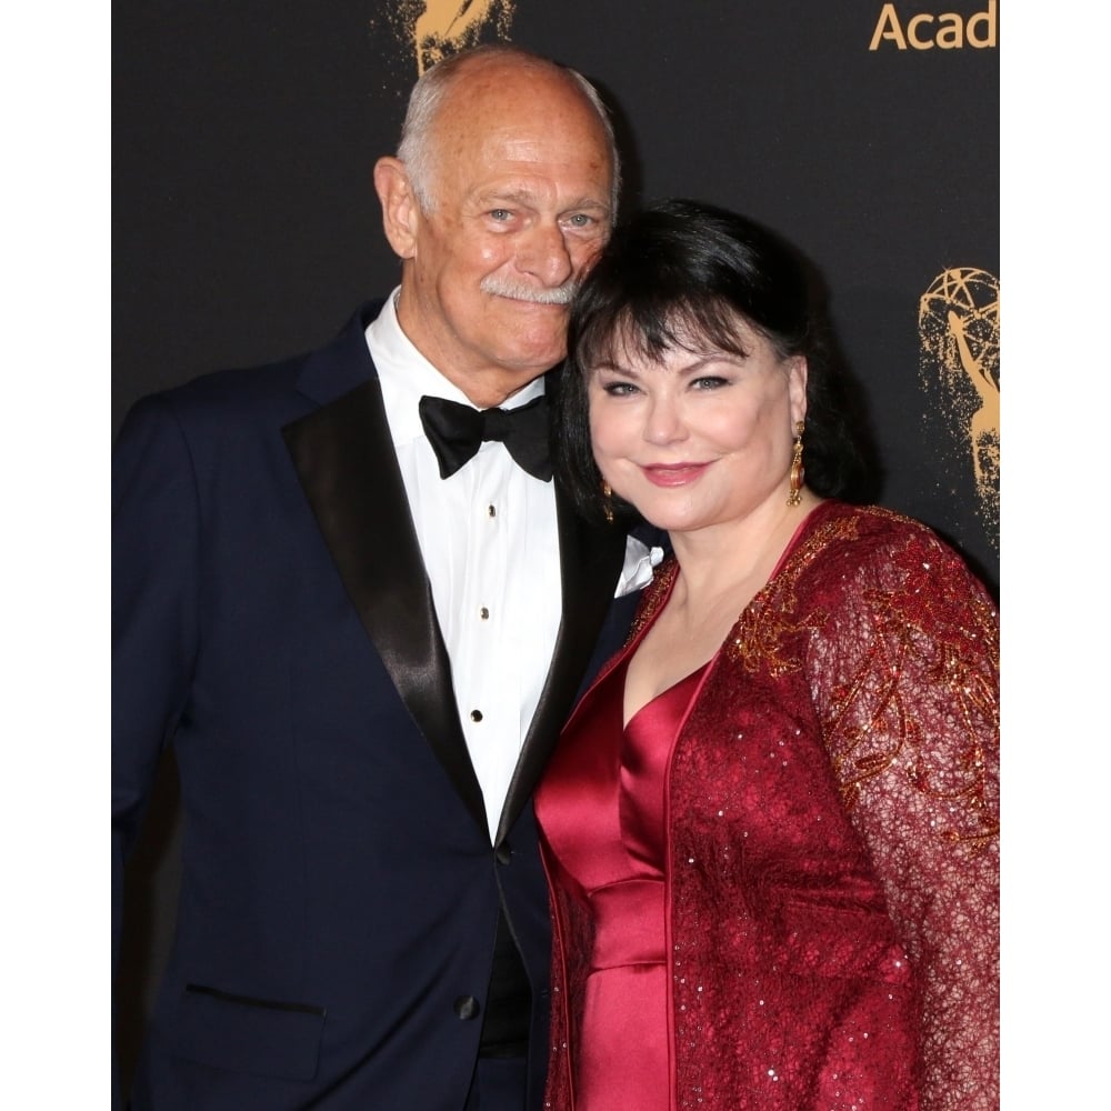
<svg viewBox="0 0 1111 1111">
<path fill-rule="evenodd" d="M 117 438 L 113 944 L 171 741 L 184 821 L 137 1111 L 460 1111 L 500 903 L 533 988 L 541 1104 L 530 797 L 628 624 L 624 537 L 557 487 L 562 624 L 491 844 L 363 336 L 376 311 L 307 357 L 147 398 Z"/>
</svg>

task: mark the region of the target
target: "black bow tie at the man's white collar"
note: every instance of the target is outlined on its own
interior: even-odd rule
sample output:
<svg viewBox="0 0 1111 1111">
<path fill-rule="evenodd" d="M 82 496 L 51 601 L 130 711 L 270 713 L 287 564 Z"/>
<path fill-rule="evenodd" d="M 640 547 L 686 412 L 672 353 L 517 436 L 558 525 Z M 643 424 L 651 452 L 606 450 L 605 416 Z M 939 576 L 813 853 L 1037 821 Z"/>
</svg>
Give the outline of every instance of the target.
<svg viewBox="0 0 1111 1111">
<path fill-rule="evenodd" d="M 440 462 L 441 479 L 454 474 L 483 440 L 500 440 L 518 467 L 533 478 L 551 480 L 546 397 L 519 409 L 472 409 L 446 398 L 421 398 L 419 409 L 424 434 Z"/>
</svg>

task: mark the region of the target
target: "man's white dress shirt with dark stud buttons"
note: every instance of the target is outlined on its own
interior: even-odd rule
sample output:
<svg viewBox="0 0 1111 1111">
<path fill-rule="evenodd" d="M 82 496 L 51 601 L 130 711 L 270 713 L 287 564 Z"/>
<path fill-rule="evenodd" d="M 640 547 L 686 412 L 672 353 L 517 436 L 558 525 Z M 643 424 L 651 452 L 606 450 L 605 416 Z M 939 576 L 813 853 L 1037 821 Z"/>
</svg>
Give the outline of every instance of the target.
<svg viewBox="0 0 1111 1111">
<path fill-rule="evenodd" d="M 441 479 L 420 422 L 421 397 L 471 404 L 406 337 L 394 294 L 367 329 L 491 841 L 548 678 L 562 610 L 556 494 L 503 443 Z M 544 392 L 529 383 L 502 408 Z M 381 542 L 388 544 L 389 537 Z"/>
</svg>

